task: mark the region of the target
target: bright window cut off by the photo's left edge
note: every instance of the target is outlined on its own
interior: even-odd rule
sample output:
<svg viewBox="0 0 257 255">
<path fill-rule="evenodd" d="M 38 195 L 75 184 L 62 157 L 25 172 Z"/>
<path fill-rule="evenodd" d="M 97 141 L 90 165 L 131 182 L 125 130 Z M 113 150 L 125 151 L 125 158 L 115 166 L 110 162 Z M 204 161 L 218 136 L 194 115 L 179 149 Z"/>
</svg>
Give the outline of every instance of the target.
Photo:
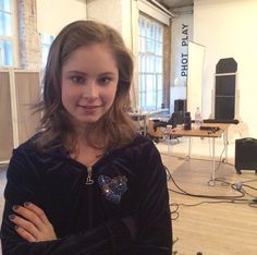
<svg viewBox="0 0 257 255">
<path fill-rule="evenodd" d="M 11 0 L 0 0 L 0 65 L 13 65 Z"/>
</svg>

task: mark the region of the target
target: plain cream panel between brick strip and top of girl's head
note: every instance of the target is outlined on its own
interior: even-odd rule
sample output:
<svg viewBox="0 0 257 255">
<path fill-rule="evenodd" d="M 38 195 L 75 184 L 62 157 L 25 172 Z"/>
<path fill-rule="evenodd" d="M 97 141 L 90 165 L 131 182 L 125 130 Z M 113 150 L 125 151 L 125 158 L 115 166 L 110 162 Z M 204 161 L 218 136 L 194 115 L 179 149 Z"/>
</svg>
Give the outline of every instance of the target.
<svg viewBox="0 0 257 255">
<path fill-rule="evenodd" d="M 86 0 L 37 0 L 38 33 L 57 35 L 63 26 L 86 19 Z"/>
</svg>

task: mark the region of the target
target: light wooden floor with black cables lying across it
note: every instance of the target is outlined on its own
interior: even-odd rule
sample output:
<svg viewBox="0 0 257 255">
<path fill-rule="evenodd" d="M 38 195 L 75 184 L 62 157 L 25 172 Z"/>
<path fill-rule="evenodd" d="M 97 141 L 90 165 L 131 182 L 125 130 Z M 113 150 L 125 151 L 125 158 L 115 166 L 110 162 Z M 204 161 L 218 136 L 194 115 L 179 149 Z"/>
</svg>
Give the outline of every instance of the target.
<svg viewBox="0 0 257 255">
<path fill-rule="evenodd" d="M 204 255 L 256 255 L 257 204 L 253 205 L 255 207 L 249 205 L 249 201 L 257 198 L 255 172 L 242 171 L 242 174 L 236 174 L 233 158 L 228 163 L 219 165 L 217 157 L 215 175 L 220 181 L 210 186 L 208 182 L 212 173 L 211 158 L 196 155 L 199 160 L 186 160 L 186 145 L 183 153 L 176 153 L 175 146 L 172 153 L 167 151 L 167 146 L 157 147 L 179 187 L 200 196 L 228 196 L 228 199 L 199 198 L 170 191 L 173 236 L 176 240 L 174 254 L 196 255 L 200 252 Z M 168 183 L 169 189 L 179 191 L 172 180 Z M 246 201 L 234 201 L 241 193 L 228 183 L 237 183 L 237 186 L 243 184 L 242 187 L 254 197 L 246 195 L 240 198 Z M 245 187 L 246 184 L 256 190 Z"/>
</svg>

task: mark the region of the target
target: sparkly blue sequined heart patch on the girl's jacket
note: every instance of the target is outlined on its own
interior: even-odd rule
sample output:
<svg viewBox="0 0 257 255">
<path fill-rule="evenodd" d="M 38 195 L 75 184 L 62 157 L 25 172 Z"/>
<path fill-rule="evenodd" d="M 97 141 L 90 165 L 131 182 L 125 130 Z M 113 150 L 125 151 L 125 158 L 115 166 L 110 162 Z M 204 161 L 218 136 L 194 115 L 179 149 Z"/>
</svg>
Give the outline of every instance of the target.
<svg viewBox="0 0 257 255">
<path fill-rule="evenodd" d="M 127 179 L 125 175 L 119 175 L 115 178 L 100 175 L 98 178 L 98 185 L 100 186 L 102 194 L 113 204 L 119 204 L 121 202 L 121 196 L 127 190 L 126 182 Z"/>
</svg>

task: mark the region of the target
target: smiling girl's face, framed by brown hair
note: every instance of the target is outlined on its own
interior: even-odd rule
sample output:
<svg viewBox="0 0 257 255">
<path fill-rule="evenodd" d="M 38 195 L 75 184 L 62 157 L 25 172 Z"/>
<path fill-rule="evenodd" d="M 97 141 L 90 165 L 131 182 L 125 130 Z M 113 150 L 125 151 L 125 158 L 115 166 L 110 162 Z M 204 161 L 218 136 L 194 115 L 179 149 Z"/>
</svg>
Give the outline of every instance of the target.
<svg viewBox="0 0 257 255">
<path fill-rule="evenodd" d="M 119 81 L 117 60 L 103 44 L 82 46 L 62 66 L 62 105 L 75 123 L 98 121 L 112 106 Z"/>
</svg>

